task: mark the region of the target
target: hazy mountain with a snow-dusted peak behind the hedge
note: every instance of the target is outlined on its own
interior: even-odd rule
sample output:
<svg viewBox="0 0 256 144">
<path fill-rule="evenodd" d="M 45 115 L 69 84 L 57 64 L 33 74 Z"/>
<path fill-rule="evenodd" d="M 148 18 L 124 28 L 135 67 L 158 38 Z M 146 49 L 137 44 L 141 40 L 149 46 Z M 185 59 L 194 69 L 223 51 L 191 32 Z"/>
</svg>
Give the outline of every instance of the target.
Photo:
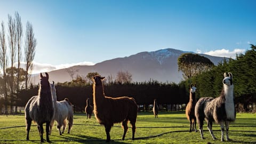
<svg viewBox="0 0 256 144">
<path fill-rule="evenodd" d="M 162 49 L 153 52 L 140 52 L 129 57 L 116 58 L 96 63 L 93 66 L 73 66 L 73 70 L 79 70 L 75 75 L 85 77 L 88 73 L 98 72 L 101 76 L 116 76 L 118 71 L 128 71 L 132 74 L 134 82 L 145 82 L 150 79 L 159 82 L 179 83 L 183 76 L 178 71 L 177 59 L 185 51 L 175 49 Z M 193 53 L 193 52 L 192 52 Z M 214 65 L 218 65 L 225 58 L 200 54 L 210 59 Z M 66 69 L 59 69 L 49 72 L 49 81 L 66 82 L 71 81 L 71 77 Z M 39 83 L 39 78 L 33 78 L 33 83 Z"/>
</svg>

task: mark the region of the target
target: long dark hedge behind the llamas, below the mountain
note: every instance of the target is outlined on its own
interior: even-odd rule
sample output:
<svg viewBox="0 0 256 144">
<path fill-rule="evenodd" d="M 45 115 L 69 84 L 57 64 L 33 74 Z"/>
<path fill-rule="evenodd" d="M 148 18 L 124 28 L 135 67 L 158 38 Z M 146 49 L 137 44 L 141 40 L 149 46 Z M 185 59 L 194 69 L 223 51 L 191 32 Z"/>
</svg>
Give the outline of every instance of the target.
<svg viewBox="0 0 256 144">
<path fill-rule="evenodd" d="M 149 81 L 142 83 L 110 83 L 104 86 L 105 94 L 110 97 L 133 97 L 138 105 L 152 105 L 157 99 L 159 105 L 176 105 L 188 102 L 188 92 L 185 85 L 159 83 Z M 86 99 L 93 99 L 91 84 L 58 83 L 56 85 L 57 100 L 68 98 L 74 105 L 75 111 L 84 111 Z M 37 95 L 38 86 L 19 92 L 19 106 L 25 106 L 27 101 Z"/>
</svg>

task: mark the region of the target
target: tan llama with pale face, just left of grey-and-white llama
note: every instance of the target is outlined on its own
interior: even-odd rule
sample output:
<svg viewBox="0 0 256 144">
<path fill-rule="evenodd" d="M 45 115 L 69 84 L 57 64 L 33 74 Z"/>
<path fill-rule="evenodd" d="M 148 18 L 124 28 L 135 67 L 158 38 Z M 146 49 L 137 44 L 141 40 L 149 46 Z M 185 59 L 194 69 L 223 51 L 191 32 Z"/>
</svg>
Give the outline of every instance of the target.
<svg viewBox="0 0 256 144">
<path fill-rule="evenodd" d="M 190 85 L 189 91 L 189 102 L 186 107 L 186 116 L 190 122 L 189 132 L 196 132 L 196 116 L 195 116 L 195 106 L 196 106 L 196 84 Z"/>
</svg>

